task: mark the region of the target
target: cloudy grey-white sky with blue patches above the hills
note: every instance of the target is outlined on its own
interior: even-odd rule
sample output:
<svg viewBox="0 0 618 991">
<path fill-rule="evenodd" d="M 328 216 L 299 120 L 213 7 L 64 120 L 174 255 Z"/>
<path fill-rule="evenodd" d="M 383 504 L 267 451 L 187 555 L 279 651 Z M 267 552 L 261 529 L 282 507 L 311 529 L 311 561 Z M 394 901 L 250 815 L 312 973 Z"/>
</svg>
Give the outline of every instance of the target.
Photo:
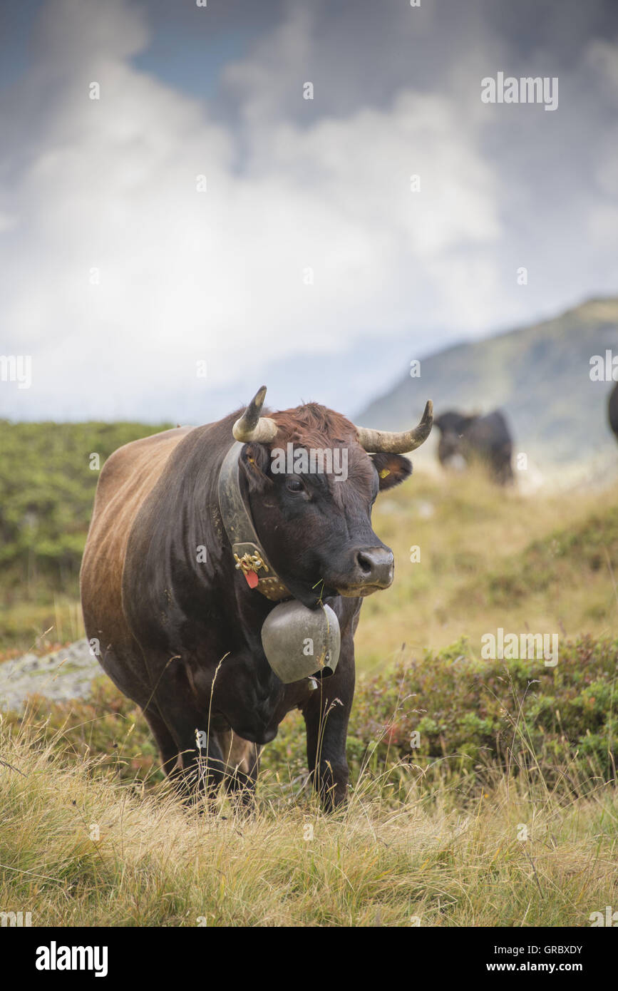
<svg viewBox="0 0 618 991">
<path fill-rule="evenodd" d="M 32 356 L 0 416 L 206 422 L 262 382 L 354 415 L 618 292 L 611 0 L 21 0 L 0 36 L 0 354 Z M 558 109 L 483 103 L 498 72 Z"/>
</svg>

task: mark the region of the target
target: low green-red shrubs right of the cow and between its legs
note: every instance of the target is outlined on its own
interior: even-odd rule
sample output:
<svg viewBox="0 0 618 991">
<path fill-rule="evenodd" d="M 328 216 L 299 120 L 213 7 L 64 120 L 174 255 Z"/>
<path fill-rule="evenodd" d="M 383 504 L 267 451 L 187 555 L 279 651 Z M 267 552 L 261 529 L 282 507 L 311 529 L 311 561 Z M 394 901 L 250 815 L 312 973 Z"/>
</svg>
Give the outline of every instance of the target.
<svg viewBox="0 0 618 991">
<path fill-rule="evenodd" d="M 556 668 L 536 660 L 478 661 L 465 650 L 461 641 L 437 656 L 361 676 L 348 739 L 354 773 L 368 758 L 376 769 L 401 759 L 427 768 L 447 758 L 478 774 L 488 762 L 529 764 L 534 754 L 548 780 L 560 773 L 554 765 L 573 760 L 587 773 L 614 775 L 618 642 L 567 642 Z M 411 745 L 415 731 L 418 746 Z M 264 762 L 298 765 L 303 748 L 298 726 L 283 723 Z"/>
</svg>

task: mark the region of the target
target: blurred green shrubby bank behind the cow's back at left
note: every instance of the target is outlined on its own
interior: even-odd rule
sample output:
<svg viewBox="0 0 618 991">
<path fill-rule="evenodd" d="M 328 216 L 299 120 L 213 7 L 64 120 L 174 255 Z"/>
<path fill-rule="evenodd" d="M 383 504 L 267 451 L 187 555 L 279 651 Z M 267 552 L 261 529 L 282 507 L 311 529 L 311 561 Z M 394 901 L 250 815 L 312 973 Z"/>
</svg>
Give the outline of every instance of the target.
<svg viewBox="0 0 618 991">
<path fill-rule="evenodd" d="M 0 420 L 0 651 L 81 629 L 77 579 L 99 471 L 170 424 Z"/>
</svg>

